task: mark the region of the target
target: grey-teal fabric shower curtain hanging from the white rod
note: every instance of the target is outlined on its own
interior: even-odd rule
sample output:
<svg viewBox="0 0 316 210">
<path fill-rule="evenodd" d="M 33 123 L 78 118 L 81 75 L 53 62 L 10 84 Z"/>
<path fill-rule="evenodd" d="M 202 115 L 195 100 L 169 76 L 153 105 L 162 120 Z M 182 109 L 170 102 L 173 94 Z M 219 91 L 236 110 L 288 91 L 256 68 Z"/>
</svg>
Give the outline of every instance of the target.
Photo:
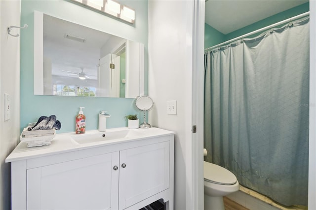
<svg viewBox="0 0 316 210">
<path fill-rule="evenodd" d="M 283 205 L 308 199 L 309 18 L 204 54 L 205 161 Z"/>
</svg>

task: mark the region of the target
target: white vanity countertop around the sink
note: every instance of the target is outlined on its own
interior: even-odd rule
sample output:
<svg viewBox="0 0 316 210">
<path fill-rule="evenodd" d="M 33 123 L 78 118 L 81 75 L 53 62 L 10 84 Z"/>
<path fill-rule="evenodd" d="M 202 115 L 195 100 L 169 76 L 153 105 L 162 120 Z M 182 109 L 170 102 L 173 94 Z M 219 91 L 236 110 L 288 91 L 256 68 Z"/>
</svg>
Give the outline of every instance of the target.
<svg viewBox="0 0 316 210">
<path fill-rule="evenodd" d="M 111 132 L 117 131 L 128 131 L 131 135 L 126 135 L 124 138 L 113 139 L 113 140 L 102 140 L 88 143 L 78 143 L 74 138 L 84 138 L 85 136 L 98 135 L 102 136 L 105 134 L 111 134 Z M 148 128 L 148 129 L 128 129 L 124 128 L 112 128 L 107 129 L 105 132 L 99 132 L 98 130 L 86 131 L 85 134 L 76 134 L 75 132 L 71 133 L 62 133 L 56 134 L 56 137 L 52 140 L 51 145 L 39 146 L 39 147 L 27 147 L 26 142 L 20 142 L 11 154 L 5 159 L 5 162 L 12 162 L 24 159 L 30 159 L 35 157 L 47 156 L 52 154 L 65 153 L 70 151 L 76 151 L 81 149 L 93 148 L 104 145 L 112 145 L 126 141 L 141 140 L 152 137 L 160 137 L 175 134 L 173 131 L 163 130 L 160 128 Z"/>
</svg>

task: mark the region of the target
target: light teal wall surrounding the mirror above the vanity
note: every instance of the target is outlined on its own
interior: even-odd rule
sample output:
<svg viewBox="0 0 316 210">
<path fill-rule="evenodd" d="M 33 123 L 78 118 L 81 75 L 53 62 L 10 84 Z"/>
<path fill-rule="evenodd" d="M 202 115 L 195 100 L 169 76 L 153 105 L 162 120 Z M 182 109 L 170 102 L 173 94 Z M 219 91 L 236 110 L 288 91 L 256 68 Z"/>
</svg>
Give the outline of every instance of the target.
<svg viewBox="0 0 316 210">
<path fill-rule="evenodd" d="M 21 130 L 40 116 L 55 114 L 62 128 L 57 133 L 74 132 L 75 116 L 79 106 L 84 106 L 86 130 L 98 129 L 98 113 L 107 110 L 111 117 L 107 127 L 125 127 L 126 114 L 141 113 L 134 107 L 134 99 L 85 98 L 34 95 L 34 10 L 81 23 L 91 28 L 118 35 L 145 45 L 145 94 L 148 92 L 148 1 L 119 0 L 136 11 L 135 25 L 126 24 L 115 18 L 64 0 L 22 0 L 21 25 Z"/>
</svg>

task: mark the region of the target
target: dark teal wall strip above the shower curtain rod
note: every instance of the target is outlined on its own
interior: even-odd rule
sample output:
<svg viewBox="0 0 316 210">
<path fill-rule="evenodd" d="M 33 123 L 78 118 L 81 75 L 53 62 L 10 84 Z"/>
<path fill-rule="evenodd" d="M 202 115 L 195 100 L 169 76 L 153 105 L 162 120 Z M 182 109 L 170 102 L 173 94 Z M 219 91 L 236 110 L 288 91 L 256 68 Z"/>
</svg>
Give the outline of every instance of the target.
<svg viewBox="0 0 316 210">
<path fill-rule="evenodd" d="M 280 22 L 282 20 L 294 17 L 296 15 L 299 15 L 299 14 L 302 14 L 302 13 L 305 13 L 308 11 L 310 11 L 309 2 L 301 4 L 299 6 L 296 6 L 292 9 L 288 9 L 284 12 L 280 12 L 276 15 L 270 16 L 266 19 L 263 19 L 261 21 L 254 23 L 254 24 L 251 24 L 249 26 L 246 26 L 244 28 L 236 30 L 236 31 L 234 31 L 230 34 L 227 34 L 227 35 L 223 35 L 223 34 L 221 35 L 220 32 L 218 32 L 217 30 L 215 30 L 211 26 L 205 24 L 204 49 L 211 47 L 211 46 L 215 46 L 216 44 L 223 43 L 224 41 L 228 41 L 228 40 L 236 38 L 238 36 L 245 35 L 247 33 L 256 31 L 256 30 L 264 28 L 266 26 L 270 26 L 274 23 Z M 259 34 L 251 35 L 248 37 L 254 37 L 254 36 L 259 35 Z"/>
</svg>

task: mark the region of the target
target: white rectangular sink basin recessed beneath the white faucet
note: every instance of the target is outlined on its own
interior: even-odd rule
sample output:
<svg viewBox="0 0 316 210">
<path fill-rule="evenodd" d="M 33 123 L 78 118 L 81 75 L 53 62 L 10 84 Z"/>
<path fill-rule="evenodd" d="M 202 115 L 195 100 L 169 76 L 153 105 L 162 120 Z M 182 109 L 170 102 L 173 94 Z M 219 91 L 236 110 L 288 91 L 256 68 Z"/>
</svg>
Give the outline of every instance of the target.
<svg viewBox="0 0 316 210">
<path fill-rule="evenodd" d="M 92 143 L 106 140 L 119 140 L 127 139 L 131 137 L 140 137 L 141 133 L 133 130 L 120 130 L 120 131 L 111 131 L 111 132 L 100 132 L 94 134 L 80 134 L 71 137 L 74 141 L 79 144 Z"/>
</svg>

